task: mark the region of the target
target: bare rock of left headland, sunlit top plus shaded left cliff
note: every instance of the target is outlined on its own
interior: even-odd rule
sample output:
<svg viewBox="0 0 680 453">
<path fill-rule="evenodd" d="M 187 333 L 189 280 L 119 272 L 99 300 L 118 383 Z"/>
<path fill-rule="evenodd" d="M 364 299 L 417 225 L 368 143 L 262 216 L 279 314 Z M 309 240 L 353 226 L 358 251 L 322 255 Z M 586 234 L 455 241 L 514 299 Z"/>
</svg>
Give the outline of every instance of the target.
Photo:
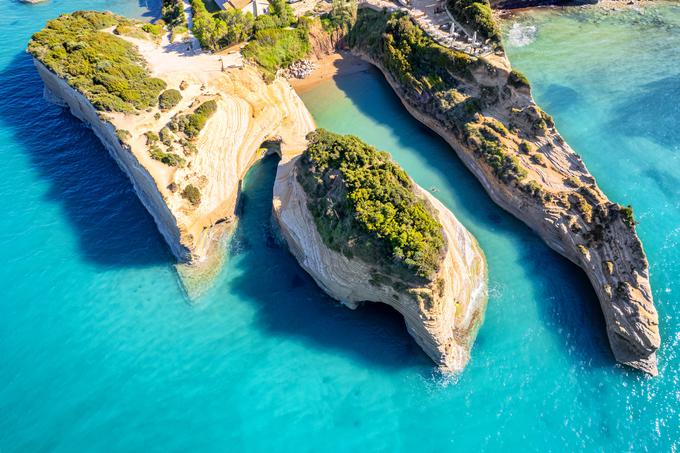
<svg viewBox="0 0 680 453">
<path fill-rule="evenodd" d="M 217 259 L 221 254 L 212 251 L 233 224 L 241 180 L 266 152 L 263 143 L 275 139 L 286 156 L 302 152 L 306 134 L 314 129 L 312 117 L 287 81 L 264 83 L 239 54 L 211 55 L 194 50 L 191 43 L 170 43 L 167 36 L 160 43 L 118 38 L 135 46 L 150 76 L 181 93 L 179 103 L 167 111 L 157 106 L 134 113 L 99 111 L 83 93 L 34 58 L 46 93 L 92 128 L 132 181 L 180 262 Z M 168 134 L 172 143 L 167 149 L 176 152 L 184 165 L 169 166 L 152 158 L 148 134 L 162 135 L 173 117 L 207 100 L 215 101 L 216 109 L 196 137 L 183 141 L 186 146 L 178 133 Z M 189 185 L 200 194 L 198 203 L 183 195 Z"/>
</svg>

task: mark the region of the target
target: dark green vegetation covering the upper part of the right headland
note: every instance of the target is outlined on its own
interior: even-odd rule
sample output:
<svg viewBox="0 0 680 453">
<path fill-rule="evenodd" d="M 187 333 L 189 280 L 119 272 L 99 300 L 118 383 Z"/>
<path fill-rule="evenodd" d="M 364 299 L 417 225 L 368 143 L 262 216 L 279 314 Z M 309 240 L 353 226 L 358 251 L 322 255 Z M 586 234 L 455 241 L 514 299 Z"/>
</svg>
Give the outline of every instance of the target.
<svg viewBox="0 0 680 453">
<path fill-rule="evenodd" d="M 466 94 L 466 84 L 478 85 L 471 71 L 482 67 L 482 60 L 436 44 L 401 13 L 361 10 L 348 42 L 379 61 L 408 99 L 442 121 L 499 179 L 511 183 L 526 176 L 519 159 L 506 149 L 507 127 L 481 115 L 490 102 L 485 87 L 479 97 Z"/>
</svg>

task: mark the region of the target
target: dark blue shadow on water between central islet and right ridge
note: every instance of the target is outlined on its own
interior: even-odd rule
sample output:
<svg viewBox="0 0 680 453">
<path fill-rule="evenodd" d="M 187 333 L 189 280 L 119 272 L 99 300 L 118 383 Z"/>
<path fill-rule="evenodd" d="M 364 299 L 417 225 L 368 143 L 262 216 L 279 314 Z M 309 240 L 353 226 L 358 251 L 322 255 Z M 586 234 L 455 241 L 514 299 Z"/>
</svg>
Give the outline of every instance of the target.
<svg viewBox="0 0 680 453">
<path fill-rule="evenodd" d="M 382 74 L 374 68 L 367 72 L 337 77 L 335 83 L 364 115 L 389 128 L 390 134 L 397 137 L 400 147 L 419 150 L 421 155 L 427 153 L 424 165 L 428 166 L 430 172 L 443 177 L 447 190 L 451 190 L 456 202 L 454 214 L 466 224 L 485 250 L 490 268 L 490 286 L 493 288 L 496 283 L 495 274 L 506 273 L 509 265 L 499 262 L 492 255 L 491 240 L 496 239 L 498 243 L 500 236 L 504 242 L 516 244 L 516 261 L 531 282 L 530 291 L 533 294 L 517 294 L 513 295 L 514 298 L 538 301 L 546 324 L 564 346 L 565 354 L 576 356 L 580 362 L 592 367 L 611 367 L 614 359 L 606 336 L 604 317 L 585 273 L 551 250 L 522 222 L 493 203 L 449 145 L 406 112 Z M 352 80 L 353 77 L 374 77 L 380 85 L 367 80 L 363 81 L 368 83 L 357 84 L 356 80 Z M 377 91 L 386 93 L 376 94 Z M 428 181 L 419 183 L 429 187 Z M 438 196 L 437 193 L 434 195 Z M 518 272 L 521 272 L 519 268 Z M 518 275 L 515 278 L 522 277 Z M 492 294 L 490 310 L 493 310 L 494 299 Z M 482 327 L 478 344 L 484 342 L 485 336 Z"/>
</svg>

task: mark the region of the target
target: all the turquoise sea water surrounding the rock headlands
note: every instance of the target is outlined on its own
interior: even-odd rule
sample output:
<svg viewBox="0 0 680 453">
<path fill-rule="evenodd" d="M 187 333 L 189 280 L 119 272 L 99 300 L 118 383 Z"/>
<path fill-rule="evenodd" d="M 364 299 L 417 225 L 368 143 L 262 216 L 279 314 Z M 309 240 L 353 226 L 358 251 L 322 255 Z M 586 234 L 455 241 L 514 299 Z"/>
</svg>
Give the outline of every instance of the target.
<svg viewBox="0 0 680 453">
<path fill-rule="evenodd" d="M 390 309 L 324 296 L 271 231 L 273 159 L 248 174 L 215 285 L 186 300 L 130 183 L 43 101 L 23 52 L 62 12 L 158 6 L 0 6 L 0 452 L 680 449 L 680 7 L 506 23 L 539 103 L 640 220 L 663 337 L 650 379 L 614 365 L 584 274 L 375 71 L 303 98 L 320 126 L 392 152 L 479 239 L 491 295 L 466 371 L 438 374 Z"/>
</svg>

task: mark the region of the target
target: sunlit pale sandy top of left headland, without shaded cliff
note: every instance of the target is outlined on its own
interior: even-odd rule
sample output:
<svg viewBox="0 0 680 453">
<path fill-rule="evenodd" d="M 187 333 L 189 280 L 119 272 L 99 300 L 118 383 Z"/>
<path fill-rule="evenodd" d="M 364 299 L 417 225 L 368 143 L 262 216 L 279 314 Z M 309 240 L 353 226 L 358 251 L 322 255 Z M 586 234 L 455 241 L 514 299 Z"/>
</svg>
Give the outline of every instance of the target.
<svg viewBox="0 0 680 453">
<path fill-rule="evenodd" d="M 117 129 L 130 132 L 131 152 L 148 169 L 175 216 L 182 244 L 192 251 L 194 261 L 202 261 L 221 236 L 217 232 L 224 230 L 225 221 L 233 219 L 240 181 L 262 157 L 262 143 L 277 139 L 283 154 L 299 154 L 314 121 L 288 81 L 279 78 L 266 84 L 256 68 L 244 64 L 237 49 L 212 54 L 193 40 L 170 43 L 164 37 L 158 44 L 121 37 L 137 46 L 153 76 L 165 80 L 168 88 L 182 88 L 182 100 L 167 112 L 154 108 L 106 116 Z M 172 145 L 186 165 L 170 167 L 152 159 L 144 133 L 158 133 L 173 116 L 209 99 L 218 107 L 193 140 L 197 152 L 186 154 L 179 144 Z M 201 192 L 198 206 L 181 196 L 189 184 Z M 214 228 L 217 224 L 219 228 Z"/>
</svg>

